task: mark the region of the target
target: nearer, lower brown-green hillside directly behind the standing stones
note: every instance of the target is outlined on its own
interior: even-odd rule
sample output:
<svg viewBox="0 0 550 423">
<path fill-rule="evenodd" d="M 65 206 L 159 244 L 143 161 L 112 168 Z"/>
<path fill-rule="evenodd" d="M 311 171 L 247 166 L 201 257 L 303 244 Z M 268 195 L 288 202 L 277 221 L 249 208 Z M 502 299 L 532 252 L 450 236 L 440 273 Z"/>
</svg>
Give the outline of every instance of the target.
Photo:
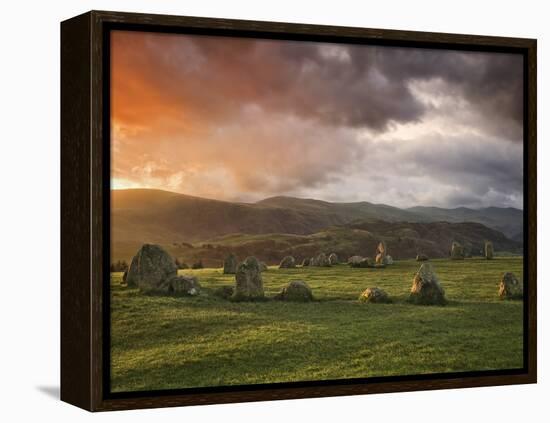
<svg viewBox="0 0 550 423">
<path fill-rule="evenodd" d="M 335 252 L 344 260 L 353 255 L 373 257 L 381 240 L 395 259 L 414 258 L 418 253 L 432 258 L 448 257 L 453 241 L 462 243 L 472 256 L 483 254 L 485 240 L 493 242 L 497 254 L 518 254 L 522 250 L 520 243 L 479 223 L 384 221 L 331 227 L 309 235 L 231 234 L 194 245 L 171 243 L 163 244 L 163 247 L 188 265 L 202 261 L 206 267 L 219 267 L 230 253 L 241 260 L 253 255 L 270 265 L 279 263 L 286 255 L 292 255 L 301 262 L 321 252 Z M 114 254 L 118 259 L 130 260 L 138 248 L 139 243 L 125 247 L 116 244 Z"/>
</svg>

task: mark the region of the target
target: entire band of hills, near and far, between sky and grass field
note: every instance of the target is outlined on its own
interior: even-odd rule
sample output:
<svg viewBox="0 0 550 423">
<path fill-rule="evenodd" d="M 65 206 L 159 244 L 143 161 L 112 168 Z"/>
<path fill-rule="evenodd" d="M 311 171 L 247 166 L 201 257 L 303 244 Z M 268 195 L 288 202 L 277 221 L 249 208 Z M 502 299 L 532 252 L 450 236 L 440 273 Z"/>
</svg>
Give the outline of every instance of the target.
<svg viewBox="0 0 550 423">
<path fill-rule="evenodd" d="M 301 245 L 294 253 L 297 256 L 324 248 L 321 241 L 327 233 L 334 248 L 340 242 L 348 244 L 338 244 L 342 254 L 358 248 L 370 251 L 370 244 L 379 238 L 400 240 L 397 257 L 414 255 L 418 249 L 444 256 L 455 239 L 474 249 L 479 249 L 484 239 L 491 239 L 497 249 L 521 250 L 520 242 L 501 233 L 517 233 L 521 228 L 522 212 L 517 209 L 399 209 L 369 202 L 292 197 L 232 203 L 146 189 L 115 190 L 111 198 L 114 259 L 128 260 L 141 244 L 152 242 L 170 246 L 173 254 L 188 257 L 186 260 L 218 260 L 236 244 L 247 245 L 243 253 L 253 247 L 255 254 L 271 262 L 296 245 Z M 235 242 L 228 244 L 230 239 Z M 277 244 L 281 239 L 284 245 Z M 301 244 L 296 244 L 298 241 Z M 193 250 L 192 254 L 187 250 Z"/>
</svg>

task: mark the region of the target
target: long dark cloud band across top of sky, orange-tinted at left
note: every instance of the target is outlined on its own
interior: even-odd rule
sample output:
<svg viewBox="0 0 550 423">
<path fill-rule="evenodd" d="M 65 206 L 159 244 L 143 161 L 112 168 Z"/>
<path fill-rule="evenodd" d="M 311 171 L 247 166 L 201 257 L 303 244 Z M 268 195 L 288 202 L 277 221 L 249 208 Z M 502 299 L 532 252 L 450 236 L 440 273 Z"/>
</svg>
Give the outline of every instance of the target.
<svg viewBox="0 0 550 423">
<path fill-rule="evenodd" d="M 511 121 L 515 127 L 505 135 L 521 139 L 519 55 L 159 34 L 117 37 L 130 44 L 118 66 L 132 67 L 167 104 L 192 104 L 210 118 L 257 103 L 271 112 L 383 130 L 391 121 L 421 119 L 426 105 L 409 83 L 439 78 L 453 96 L 491 116 L 488 127 Z"/>
</svg>

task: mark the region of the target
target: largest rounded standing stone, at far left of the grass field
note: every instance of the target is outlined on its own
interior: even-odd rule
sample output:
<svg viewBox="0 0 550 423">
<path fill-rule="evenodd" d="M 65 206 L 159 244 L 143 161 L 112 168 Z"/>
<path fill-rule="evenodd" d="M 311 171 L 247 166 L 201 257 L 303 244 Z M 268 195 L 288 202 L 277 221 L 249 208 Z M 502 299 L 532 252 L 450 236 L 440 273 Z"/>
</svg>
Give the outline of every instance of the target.
<svg viewBox="0 0 550 423">
<path fill-rule="evenodd" d="M 144 244 L 136 253 L 126 275 L 129 287 L 144 292 L 163 290 L 162 283 L 177 275 L 174 260 L 159 245 Z"/>
</svg>

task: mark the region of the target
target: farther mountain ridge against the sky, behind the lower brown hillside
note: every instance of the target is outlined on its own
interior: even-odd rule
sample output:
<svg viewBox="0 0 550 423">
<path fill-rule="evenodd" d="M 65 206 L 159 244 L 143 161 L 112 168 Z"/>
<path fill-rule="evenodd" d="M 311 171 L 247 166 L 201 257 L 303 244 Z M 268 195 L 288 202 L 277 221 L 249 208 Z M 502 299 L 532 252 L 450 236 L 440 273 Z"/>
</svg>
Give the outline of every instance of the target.
<svg viewBox="0 0 550 423">
<path fill-rule="evenodd" d="M 522 233 L 523 212 L 517 209 L 473 210 L 413 207 L 400 209 L 366 201 L 331 203 L 293 197 L 271 197 L 237 203 L 161 190 L 111 192 L 113 247 L 153 242 L 197 243 L 229 234 L 311 235 L 353 222 L 474 222 L 504 233 Z"/>
</svg>

